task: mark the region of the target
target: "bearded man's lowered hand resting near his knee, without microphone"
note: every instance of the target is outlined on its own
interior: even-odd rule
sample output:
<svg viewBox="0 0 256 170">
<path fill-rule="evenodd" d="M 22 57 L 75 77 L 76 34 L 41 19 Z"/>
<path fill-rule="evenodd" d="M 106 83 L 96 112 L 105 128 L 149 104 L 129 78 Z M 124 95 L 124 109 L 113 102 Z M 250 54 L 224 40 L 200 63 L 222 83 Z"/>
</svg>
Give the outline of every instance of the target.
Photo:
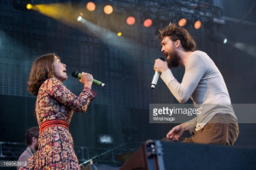
<svg viewBox="0 0 256 170">
<path fill-rule="evenodd" d="M 166 134 L 166 138 L 177 141 L 186 130 L 188 130 L 186 124 L 177 125 L 176 127 L 173 127 L 169 133 Z"/>
</svg>

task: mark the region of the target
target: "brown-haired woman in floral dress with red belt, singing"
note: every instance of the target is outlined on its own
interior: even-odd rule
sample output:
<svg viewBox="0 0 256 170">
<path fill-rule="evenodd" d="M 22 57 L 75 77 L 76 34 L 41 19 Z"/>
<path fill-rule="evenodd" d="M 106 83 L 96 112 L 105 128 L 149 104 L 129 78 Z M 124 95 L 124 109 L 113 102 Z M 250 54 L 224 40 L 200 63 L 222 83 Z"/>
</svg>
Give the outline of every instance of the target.
<svg viewBox="0 0 256 170">
<path fill-rule="evenodd" d="M 23 169 L 79 169 L 68 126 L 73 111 L 86 111 L 96 93 L 90 89 L 90 74 L 82 73 L 79 82 L 84 89 L 79 96 L 62 84 L 66 79 L 66 65 L 58 55 L 46 54 L 34 61 L 27 89 L 38 96 L 35 113 L 40 127 L 39 148 Z"/>
</svg>

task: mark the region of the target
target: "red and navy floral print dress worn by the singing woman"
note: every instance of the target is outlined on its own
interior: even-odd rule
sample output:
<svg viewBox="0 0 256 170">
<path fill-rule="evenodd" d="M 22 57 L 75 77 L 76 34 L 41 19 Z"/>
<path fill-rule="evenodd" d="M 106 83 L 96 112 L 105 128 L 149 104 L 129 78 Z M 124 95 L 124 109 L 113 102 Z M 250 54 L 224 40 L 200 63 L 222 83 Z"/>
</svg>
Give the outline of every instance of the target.
<svg viewBox="0 0 256 170">
<path fill-rule="evenodd" d="M 96 93 L 84 88 L 79 96 L 71 93 L 61 81 L 50 78 L 38 91 L 36 115 L 38 125 L 61 120 L 68 125 L 73 111 L 84 112 Z M 67 127 L 52 125 L 40 129 L 38 151 L 21 169 L 79 169 L 79 161 L 73 150 L 73 138 Z"/>
</svg>

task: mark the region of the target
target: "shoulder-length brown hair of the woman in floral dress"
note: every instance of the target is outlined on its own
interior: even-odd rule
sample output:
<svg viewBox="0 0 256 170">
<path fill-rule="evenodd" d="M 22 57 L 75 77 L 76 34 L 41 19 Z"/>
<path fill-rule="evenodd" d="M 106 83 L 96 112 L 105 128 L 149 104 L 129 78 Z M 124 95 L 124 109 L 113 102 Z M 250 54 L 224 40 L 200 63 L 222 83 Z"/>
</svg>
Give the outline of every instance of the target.
<svg viewBox="0 0 256 170">
<path fill-rule="evenodd" d="M 55 62 L 55 56 L 60 59 L 57 54 L 45 54 L 35 59 L 27 82 L 27 91 L 29 93 L 38 95 L 38 90 L 43 82 L 54 77 L 53 63 Z"/>
</svg>

